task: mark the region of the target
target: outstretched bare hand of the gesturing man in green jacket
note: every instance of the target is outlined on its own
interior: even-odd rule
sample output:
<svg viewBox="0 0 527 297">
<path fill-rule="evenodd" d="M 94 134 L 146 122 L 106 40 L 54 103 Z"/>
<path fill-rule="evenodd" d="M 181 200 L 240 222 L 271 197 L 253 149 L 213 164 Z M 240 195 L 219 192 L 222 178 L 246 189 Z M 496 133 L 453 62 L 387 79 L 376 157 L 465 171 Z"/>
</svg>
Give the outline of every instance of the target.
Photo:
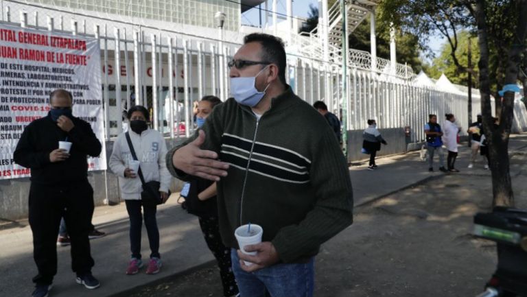
<svg viewBox="0 0 527 297">
<path fill-rule="evenodd" d="M 229 164 L 218 161 L 218 154 L 215 152 L 200 149 L 204 141 L 205 132 L 200 130 L 198 138 L 174 152 L 172 165 L 191 176 L 219 181 L 227 176 Z"/>
</svg>

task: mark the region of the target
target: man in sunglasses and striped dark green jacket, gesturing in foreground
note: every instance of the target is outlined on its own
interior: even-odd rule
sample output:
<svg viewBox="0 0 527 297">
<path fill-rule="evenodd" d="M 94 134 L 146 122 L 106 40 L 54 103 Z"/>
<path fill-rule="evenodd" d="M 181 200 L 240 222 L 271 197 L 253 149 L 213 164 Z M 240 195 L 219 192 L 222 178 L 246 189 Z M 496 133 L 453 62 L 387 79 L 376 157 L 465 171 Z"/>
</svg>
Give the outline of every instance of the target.
<svg viewBox="0 0 527 297">
<path fill-rule="evenodd" d="M 347 162 L 325 118 L 285 83 L 279 38 L 246 36 L 229 67 L 233 98 L 167 153 L 167 167 L 183 180 L 218 182 L 220 232 L 241 296 L 312 296 L 320 245 L 353 222 Z M 248 223 L 264 230 L 261 243 L 245 246 L 254 256 L 234 236 Z"/>
</svg>

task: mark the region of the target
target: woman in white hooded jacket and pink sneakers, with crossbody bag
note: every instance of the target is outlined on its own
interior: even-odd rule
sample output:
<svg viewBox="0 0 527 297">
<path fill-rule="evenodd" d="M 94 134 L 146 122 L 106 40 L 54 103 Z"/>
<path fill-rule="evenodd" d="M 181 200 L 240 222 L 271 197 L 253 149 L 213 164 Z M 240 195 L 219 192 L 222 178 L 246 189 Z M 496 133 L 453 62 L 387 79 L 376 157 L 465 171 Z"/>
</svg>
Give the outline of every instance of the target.
<svg viewBox="0 0 527 297">
<path fill-rule="evenodd" d="M 149 113 L 143 106 L 133 106 L 128 110 L 130 130 L 128 134 L 132 141 L 135 154 L 140 162 L 141 173 L 145 182 L 156 180 L 160 182 L 159 192 L 163 203 L 168 199 L 170 174 L 165 163 L 167 145 L 163 135 L 156 130 L 148 128 Z M 126 274 L 136 274 L 143 266 L 141 261 L 141 207 L 150 243 L 150 261 L 146 270 L 147 274 L 156 274 L 161 268 L 161 255 L 159 254 L 159 229 L 156 222 L 156 205 L 145 204 L 141 200 L 141 179 L 128 167 L 134 160 L 130 153 L 126 132 L 117 137 L 110 156 L 110 169 L 119 176 L 121 197 L 126 203 L 126 210 L 130 217 L 130 250 L 132 257 L 128 263 Z"/>
</svg>

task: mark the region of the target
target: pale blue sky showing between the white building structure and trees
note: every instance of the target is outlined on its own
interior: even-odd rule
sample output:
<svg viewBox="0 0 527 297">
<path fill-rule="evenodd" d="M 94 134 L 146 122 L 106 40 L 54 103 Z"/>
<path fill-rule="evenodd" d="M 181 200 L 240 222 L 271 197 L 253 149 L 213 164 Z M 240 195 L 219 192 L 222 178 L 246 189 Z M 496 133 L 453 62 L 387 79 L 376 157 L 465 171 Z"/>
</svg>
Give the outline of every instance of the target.
<svg viewBox="0 0 527 297">
<path fill-rule="evenodd" d="M 268 9 L 272 10 L 272 0 L 268 0 Z M 298 16 L 301 18 L 307 18 L 308 12 L 309 12 L 309 4 L 315 5 L 318 7 L 318 1 L 317 0 L 294 0 L 293 1 L 293 16 Z M 262 13 L 261 13 L 261 19 L 262 24 L 265 24 L 265 14 L 264 9 L 265 5 L 261 5 Z M 285 14 L 285 0 L 278 0 L 278 12 L 281 14 Z M 269 22 L 272 23 L 272 16 L 269 16 Z M 244 14 L 242 14 L 242 23 L 244 25 L 255 25 L 259 26 L 259 10 L 257 8 L 253 8 L 251 10 L 248 10 Z M 439 55 L 439 51 L 441 50 L 441 45 L 445 42 L 445 39 L 441 36 L 434 36 L 430 38 L 430 42 L 428 45 L 430 48 L 434 51 L 434 54 L 436 56 Z M 430 62 L 430 61 L 428 61 Z"/>
</svg>

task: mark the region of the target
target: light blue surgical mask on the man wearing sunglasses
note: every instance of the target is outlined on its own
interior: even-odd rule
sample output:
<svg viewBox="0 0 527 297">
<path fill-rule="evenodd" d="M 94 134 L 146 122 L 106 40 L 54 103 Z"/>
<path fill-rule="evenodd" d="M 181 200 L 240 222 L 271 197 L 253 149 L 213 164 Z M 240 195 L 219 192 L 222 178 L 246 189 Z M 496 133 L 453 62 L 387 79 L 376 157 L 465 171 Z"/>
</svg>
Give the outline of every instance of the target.
<svg viewBox="0 0 527 297">
<path fill-rule="evenodd" d="M 266 95 L 267 88 L 266 86 L 264 91 L 259 92 L 255 86 L 256 78 L 260 75 L 261 71 L 253 77 L 248 78 L 231 78 L 231 95 L 233 95 L 236 102 L 242 105 L 255 107 L 260 101 L 261 98 Z"/>
</svg>

